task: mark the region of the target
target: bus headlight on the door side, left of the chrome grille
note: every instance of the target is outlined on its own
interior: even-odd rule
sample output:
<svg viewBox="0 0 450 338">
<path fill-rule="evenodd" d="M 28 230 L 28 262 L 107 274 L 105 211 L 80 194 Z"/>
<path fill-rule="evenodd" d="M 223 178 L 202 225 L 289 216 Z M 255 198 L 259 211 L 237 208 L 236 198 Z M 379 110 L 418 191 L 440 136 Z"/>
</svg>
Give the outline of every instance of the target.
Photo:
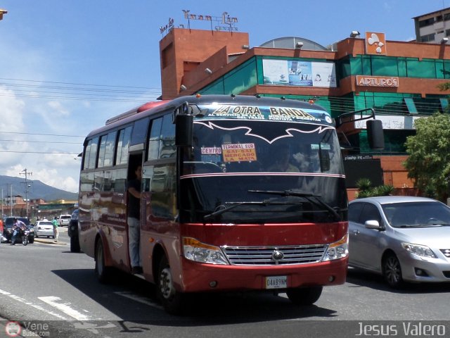
<svg viewBox="0 0 450 338">
<path fill-rule="evenodd" d="M 183 237 L 184 257 L 190 261 L 229 265 L 219 246 L 209 245 L 192 237 Z"/>
</svg>

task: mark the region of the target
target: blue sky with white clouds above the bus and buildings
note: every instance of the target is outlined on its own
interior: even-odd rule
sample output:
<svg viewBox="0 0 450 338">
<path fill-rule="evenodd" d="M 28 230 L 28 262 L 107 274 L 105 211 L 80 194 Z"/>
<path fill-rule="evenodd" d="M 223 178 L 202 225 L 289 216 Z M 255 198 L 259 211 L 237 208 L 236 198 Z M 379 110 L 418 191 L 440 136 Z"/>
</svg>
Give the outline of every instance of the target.
<svg viewBox="0 0 450 338">
<path fill-rule="evenodd" d="M 161 94 L 160 27 L 184 12 L 237 18 L 250 47 L 278 37 L 328 46 L 353 30 L 415 39 L 414 17 L 450 0 L 0 0 L 0 175 L 78 192 L 84 137 Z M 210 25 L 191 20 L 191 28 Z M 202 48 L 202 46 L 198 46 Z M 6 187 L 1 187 L 6 189 Z M 31 187 L 32 189 L 32 187 Z"/>
</svg>

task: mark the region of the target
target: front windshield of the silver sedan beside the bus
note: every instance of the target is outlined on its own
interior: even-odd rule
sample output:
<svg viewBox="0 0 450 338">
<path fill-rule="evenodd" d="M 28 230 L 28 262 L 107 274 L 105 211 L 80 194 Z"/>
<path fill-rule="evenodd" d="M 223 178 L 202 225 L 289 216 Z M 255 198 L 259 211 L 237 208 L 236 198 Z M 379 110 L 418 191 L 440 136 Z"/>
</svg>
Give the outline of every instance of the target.
<svg viewBox="0 0 450 338">
<path fill-rule="evenodd" d="M 383 204 L 392 227 L 437 227 L 450 225 L 450 208 L 434 201 Z"/>
</svg>

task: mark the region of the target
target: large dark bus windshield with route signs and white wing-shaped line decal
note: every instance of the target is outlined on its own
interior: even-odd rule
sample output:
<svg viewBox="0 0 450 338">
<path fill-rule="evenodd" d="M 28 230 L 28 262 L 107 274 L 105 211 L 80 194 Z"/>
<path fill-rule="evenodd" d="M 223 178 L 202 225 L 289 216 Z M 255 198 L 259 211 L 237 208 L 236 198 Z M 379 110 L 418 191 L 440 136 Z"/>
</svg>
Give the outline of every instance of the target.
<svg viewBox="0 0 450 338">
<path fill-rule="evenodd" d="M 186 222 L 329 222 L 333 212 L 316 199 L 345 208 L 343 177 L 332 126 L 198 119 L 181 163 L 180 215 Z"/>
</svg>

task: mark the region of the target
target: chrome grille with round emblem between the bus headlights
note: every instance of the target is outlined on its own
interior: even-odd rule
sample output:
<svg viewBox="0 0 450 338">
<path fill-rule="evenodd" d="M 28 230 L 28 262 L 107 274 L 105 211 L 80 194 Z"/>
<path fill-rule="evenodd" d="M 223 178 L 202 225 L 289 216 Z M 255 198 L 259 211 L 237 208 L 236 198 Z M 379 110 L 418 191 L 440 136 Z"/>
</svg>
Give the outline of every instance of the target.
<svg viewBox="0 0 450 338">
<path fill-rule="evenodd" d="M 320 262 L 327 245 L 223 246 L 231 265 L 288 265 Z M 282 255 L 281 255 L 281 254 Z M 280 258 L 281 259 L 276 259 Z"/>
</svg>

